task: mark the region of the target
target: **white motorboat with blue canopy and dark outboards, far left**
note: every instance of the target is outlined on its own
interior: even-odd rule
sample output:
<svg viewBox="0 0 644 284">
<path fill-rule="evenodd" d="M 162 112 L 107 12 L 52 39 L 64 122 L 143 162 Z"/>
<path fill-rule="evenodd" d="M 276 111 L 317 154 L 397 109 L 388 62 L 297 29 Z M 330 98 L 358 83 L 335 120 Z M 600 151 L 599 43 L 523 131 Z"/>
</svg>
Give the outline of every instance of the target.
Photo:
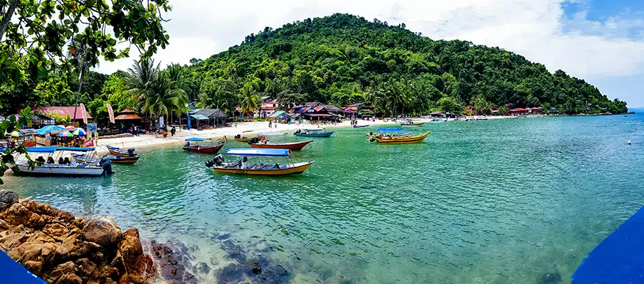
<svg viewBox="0 0 644 284">
<path fill-rule="evenodd" d="M 28 153 L 33 154 L 49 154 L 47 160 L 43 156 L 39 156 L 35 160 L 35 165 L 33 169 L 30 168 L 29 162 L 26 159 L 16 160 L 16 166 L 19 168 L 19 171 L 14 172 L 16 175 L 60 175 L 68 177 L 78 177 L 78 176 L 100 176 L 111 174 L 112 165 L 109 160 L 102 159 L 97 164 L 90 163 L 78 163 L 73 158 L 72 160 L 69 157 L 65 157 L 63 163 L 55 163 L 56 159 L 53 157 L 54 154 L 58 153 L 58 160 L 63 158 L 65 153 L 69 152 L 83 152 L 87 153 L 94 152 L 94 148 L 74 148 L 74 147 L 28 147 L 26 148 Z"/>
</svg>

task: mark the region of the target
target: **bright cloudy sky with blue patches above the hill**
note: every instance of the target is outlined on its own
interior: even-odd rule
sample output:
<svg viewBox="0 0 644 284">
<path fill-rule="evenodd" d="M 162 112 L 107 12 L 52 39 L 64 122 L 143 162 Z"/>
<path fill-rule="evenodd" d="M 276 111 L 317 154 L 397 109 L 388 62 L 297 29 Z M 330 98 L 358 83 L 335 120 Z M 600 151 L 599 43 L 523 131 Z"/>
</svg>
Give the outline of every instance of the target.
<svg viewBox="0 0 644 284">
<path fill-rule="evenodd" d="M 170 0 L 170 45 L 155 60 L 206 59 L 264 27 L 351 13 L 438 40 L 497 46 L 564 70 L 609 98 L 644 107 L 643 0 Z M 134 55 L 132 53 L 131 55 Z M 132 58 L 101 62 L 98 72 L 127 70 Z"/>
</svg>

